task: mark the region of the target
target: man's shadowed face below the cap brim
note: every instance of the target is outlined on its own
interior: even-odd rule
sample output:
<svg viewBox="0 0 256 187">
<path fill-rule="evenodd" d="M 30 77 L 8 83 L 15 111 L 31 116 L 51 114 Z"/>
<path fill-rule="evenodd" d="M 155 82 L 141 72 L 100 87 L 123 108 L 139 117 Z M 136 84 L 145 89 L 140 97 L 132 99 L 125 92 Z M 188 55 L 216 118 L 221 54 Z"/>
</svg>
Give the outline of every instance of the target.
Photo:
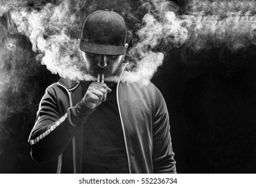
<svg viewBox="0 0 256 187">
<path fill-rule="evenodd" d="M 122 71 L 124 55 L 98 55 L 82 51 L 86 61 L 86 71 L 97 77 L 98 73 L 104 73 L 105 77 L 119 75 Z"/>
</svg>

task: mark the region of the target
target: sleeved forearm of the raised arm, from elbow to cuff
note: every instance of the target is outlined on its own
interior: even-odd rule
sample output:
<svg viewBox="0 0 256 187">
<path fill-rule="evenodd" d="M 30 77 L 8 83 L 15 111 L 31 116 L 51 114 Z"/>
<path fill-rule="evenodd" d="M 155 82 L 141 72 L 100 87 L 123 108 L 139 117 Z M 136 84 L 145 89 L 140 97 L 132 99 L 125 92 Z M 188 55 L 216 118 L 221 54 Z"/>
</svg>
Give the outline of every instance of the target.
<svg viewBox="0 0 256 187">
<path fill-rule="evenodd" d="M 81 108 L 78 104 L 69 108 L 60 118 L 40 116 L 29 137 L 29 150 L 33 160 L 47 162 L 59 156 L 92 112 L 94 110 Z"/>
</svg>

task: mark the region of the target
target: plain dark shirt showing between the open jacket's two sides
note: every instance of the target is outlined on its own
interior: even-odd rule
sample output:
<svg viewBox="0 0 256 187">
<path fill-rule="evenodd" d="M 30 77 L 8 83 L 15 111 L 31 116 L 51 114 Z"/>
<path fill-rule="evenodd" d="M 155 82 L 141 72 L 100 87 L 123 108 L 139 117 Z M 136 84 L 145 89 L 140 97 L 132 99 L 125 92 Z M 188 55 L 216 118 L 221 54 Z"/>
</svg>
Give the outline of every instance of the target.
<svg viewBox="0 0 256 187">
<path fill-rule="evenodd" d="M 82 168 L 84 173 L 129 172 L 116 100 L 116 83 L 106 84 L 112 91 L 108 93 L 106 102 L 98 106 L 84 126 Z"/>
</svg>

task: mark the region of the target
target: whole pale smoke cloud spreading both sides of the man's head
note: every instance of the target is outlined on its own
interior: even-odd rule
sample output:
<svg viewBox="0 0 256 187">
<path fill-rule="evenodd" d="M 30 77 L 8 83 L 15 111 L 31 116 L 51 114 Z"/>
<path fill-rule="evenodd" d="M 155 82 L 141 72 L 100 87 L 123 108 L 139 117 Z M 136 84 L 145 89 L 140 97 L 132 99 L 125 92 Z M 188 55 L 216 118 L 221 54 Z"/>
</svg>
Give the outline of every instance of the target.
<svg viewBox="0 0 256 187">
<path fill-rule="evenodd" d="M 29 5 L 31 1 L 0 2 L 0 15 L 7 13 L 7 31 L 25 35 L 37 53 L 35 59 L 51 73 L 74 80 L 94 79 L 86 73 L 78 39 L 81 20 L 98 8 L 97 1 L 32 1 L 33 7 Z M 132 44 L 128 49 L 128 69 L 144 79 L 150 80 L 162 65 L 164 56 L 160 52 L 168 54 L 173 47 L 189 48 L 197 53 L 213 47 L 237 51 L 256 43 L 254 1 L 191 0 L 182 14 L 172 1 L 136 3 L 139 6 L 135 11 L 130 7 L 119 11 L 130 25 L 132 21 L 136 25 L 128 27 Z M 9 37 L 5 31 L 1 38 L 2 47 L 16 50 L 17 37 Z"/>
</svg>

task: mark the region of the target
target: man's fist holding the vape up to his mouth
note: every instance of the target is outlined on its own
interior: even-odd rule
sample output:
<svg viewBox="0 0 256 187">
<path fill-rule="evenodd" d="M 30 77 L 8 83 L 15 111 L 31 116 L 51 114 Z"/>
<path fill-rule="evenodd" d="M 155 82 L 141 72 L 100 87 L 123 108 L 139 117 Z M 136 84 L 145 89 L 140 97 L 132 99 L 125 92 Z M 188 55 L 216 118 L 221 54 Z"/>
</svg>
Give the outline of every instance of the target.
<svg viewBox="0 0 256 187">
<path fill-rule="evenodd" d="M 94 109 L 106 101 L 107 93 L 110 93 L 110 91 L 111 89 L 106 83 L 94 81 L 89 85 L 82 101 L 85 106 Z"/>
</svg>

